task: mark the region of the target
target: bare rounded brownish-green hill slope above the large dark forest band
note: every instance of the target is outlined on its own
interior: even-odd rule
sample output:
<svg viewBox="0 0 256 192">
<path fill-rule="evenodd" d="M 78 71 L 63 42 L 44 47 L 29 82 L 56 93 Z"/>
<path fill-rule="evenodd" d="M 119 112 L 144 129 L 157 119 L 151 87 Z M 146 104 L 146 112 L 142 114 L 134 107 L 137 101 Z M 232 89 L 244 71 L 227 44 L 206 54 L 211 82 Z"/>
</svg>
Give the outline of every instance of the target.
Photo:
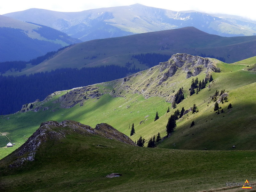
<svg viewBox="0 0 256 192">
<path fill-rule="evenodd" d="M 6 72 L 5 75 L 23 75 L 57 68 L 83 68 L 101 65 L 125 66 L 148 69 L 132 55 L 140 53 L 176 54 L 186 52 L 191 55 L 213 55 L 227 63 L 255 56 L 256 36 L 221 37 L 186 27 L 165 31 L 143 33 L 131 36 L 97 39 L 69 46 L 52 58 L 31 66 L 21 72 Z M 157 65 L 158 63 L 156 63 Z"/>
</svg>

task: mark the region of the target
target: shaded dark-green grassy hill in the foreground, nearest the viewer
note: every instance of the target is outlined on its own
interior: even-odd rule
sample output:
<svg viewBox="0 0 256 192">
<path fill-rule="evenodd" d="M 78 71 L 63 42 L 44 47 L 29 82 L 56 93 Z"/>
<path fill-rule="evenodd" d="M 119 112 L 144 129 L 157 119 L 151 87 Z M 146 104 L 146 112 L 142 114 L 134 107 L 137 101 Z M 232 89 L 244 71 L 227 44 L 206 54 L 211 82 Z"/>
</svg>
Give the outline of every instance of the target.
<svg viewBox="0 0 256 192">
<path fill-rule="evenodd" d="M 32 136 L 39 143 L 33 161 L 9 167 L 20 151 L 0 160 L 1 191 L 238 192 L 245 189 L 226 183 L 246 179 L 253 187 L 246 190 L 254 191 L 254 151 L 141 148 L 98 130 L 74 121 L 43 123 Z M 110 173 L 121 176 L 107 178 Z"/>
</svg>

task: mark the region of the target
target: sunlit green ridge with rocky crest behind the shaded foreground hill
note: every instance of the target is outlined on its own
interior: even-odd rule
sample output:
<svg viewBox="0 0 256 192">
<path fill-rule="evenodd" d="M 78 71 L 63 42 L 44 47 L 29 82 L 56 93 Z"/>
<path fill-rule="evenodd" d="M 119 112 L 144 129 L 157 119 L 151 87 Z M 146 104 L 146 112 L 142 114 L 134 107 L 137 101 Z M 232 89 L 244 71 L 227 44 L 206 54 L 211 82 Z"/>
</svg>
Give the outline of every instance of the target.
<svg viewBox="0 0 256 192">
<path fill-rule="evenodd" d="M 220 73 L 213 72 L 215 68 L 220 68 Z M 52 93 L 44 101 L 34 102 L 33 108 L 29 108 L 30 104 L 24 105 L 22 111 L 25 113 L 1 116 L 0 132 L 9 132 L 8 138 L 17 143 L 13 148 L 1 148 L 1 154 L 5 156 L 18 148 L 41 122 L 49 120 L 72 119 L 92 127 L 101 121 L 118 127 L 118 131 L 126 135 L 130 135 L 129 124 L 134 123 L 135 134 L 131 139 L 138 140 L 143 136 L 148 141 L 158 132 L 162 137 L 166 135 L 169 116 L 182 107 L 188 110 L 194 103 L 199 112 L 188 112 L 180 118 L 173 135 L 159 147 L 229 150 L 235 145 L 232 150 L 255 149 L 255 114 L 252 111 L 256 108 L 253 103 L 256 76 L 254 72 L 242 70 L 244 68 L 244 64 L 176 54 L 169 61 L 132 76 Z M 198 69 L 201 70 L 199 74 Z M 194 76 L 186 78 L 190 71 Z M 202 80 L 210 74 L 214 80 L 198 94 L 189 96 L 191 79 L 197 77 Z M 174 94 L 181 87 L 185 100 L 166 113 Z M 213 111 L 215 102 L 210 97 L 216 90 L 223 89 L 228 95 L 228 102 L 219 103 L 224 113 L 218 115 Z M 228 109 L 229 103 L 233 108 Z M 156 111 L 160 118 L 154 121 Z M 189 128 L 193 120 L 196 125 Z M 2 147 L 6 145 L 6 139 L 0 136 Z"/>
</svg>

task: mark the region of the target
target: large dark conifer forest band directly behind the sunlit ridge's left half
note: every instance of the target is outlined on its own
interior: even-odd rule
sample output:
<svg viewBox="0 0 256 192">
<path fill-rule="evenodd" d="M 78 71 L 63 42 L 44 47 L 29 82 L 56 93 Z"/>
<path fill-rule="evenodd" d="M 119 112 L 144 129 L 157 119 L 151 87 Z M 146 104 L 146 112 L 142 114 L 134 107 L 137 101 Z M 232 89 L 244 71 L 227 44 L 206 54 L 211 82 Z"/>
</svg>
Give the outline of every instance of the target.
<svg viewBox="0 0 256 192">
<path fill-rule="evenodd" d="M 94 68 L 62 68 L 29 76 L 0 76 L 0 115 L 19 111 L 23 104 L 44 98 L 55 91 L 111 81 L 136 73 L 139 68 L 116 65 Z M 94 75 L 92 75 L 94 74 Z"/>
</svg>

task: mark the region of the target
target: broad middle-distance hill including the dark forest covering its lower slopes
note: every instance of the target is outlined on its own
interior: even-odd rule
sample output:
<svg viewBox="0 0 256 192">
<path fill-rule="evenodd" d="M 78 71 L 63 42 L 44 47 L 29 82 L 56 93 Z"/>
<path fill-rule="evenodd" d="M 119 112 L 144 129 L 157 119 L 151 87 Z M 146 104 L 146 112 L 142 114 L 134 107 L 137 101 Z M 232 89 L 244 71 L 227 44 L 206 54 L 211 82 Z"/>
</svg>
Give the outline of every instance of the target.
<svg viewBox="0 0 256 192">
<path fill-rule="evenodd" d="M 74 44 L 59 52 L 47 53 L 35 63 L 32 60 L 18 67 L 7 63 L 8 66 L 0 66 L 3 74 L 0 114 L 16 112 L 22 104 L 43 100 L 57 90 L 131 75 L 158 65 L 179 52 L 226 63 L 237 62 L 255 56 L 255 39 L 256 36 L 221 37 L 186 27 Z"/>
</svg>

